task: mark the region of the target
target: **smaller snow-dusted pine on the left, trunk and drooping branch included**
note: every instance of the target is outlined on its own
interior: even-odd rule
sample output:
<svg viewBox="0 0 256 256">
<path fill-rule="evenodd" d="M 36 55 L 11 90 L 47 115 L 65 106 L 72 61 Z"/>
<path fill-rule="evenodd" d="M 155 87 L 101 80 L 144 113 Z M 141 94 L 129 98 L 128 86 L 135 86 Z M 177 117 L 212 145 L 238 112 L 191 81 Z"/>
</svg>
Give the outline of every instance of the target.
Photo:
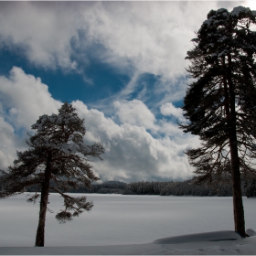
<svg viewBox="0 0 256 256">
<path fill-rule="evenodd" d="M 32 129 L 37 130 L 29 135 L 29 149 L 17 152 L 17 160 L 7 171 L 2 171 L 0 197 L 20 194 L 26 187 L 36 185 L 41 194 L 34 194 L 27 199 L 36 202 L 40 197 L 39 221 L 37 227 L 36 246 L 44 246 L 45 221 L 48 209 L 49 190 L 58 192 L 64 199 L 65 209 L 56 215 L 59 222 L 64 223 L 93 207 L 86 197 L 70 197 L 64 192 L 79 187 L 80 184 L 91 187 L 91 181 L 99 178 L 94 175 L 90 165 L 91 156 L 101 159 L 104 148 L 101 144 L 86 145 L 83 136 L 86 133 L 80 119 L 71 104 L 64 103 L 59 114 L 39 117 Z"/>
</svg>

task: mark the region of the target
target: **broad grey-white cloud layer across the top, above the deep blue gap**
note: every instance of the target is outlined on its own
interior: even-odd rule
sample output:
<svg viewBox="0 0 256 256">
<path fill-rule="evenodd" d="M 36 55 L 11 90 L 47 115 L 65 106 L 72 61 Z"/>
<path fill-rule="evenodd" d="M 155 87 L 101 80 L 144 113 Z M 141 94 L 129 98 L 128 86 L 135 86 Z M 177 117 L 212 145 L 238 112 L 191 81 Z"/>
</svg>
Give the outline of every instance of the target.
<svg viewBox="0 0 256 256">
<path fill-rule="evenodd" d="M 223 6 L 240 2 L 223 2 Z M 136 70 L 176 80 L 186 74 L 185 57 L 192 47 L 194 31 L 208 11 L 220 4 L 21 1 L 0 5 L 0 43 L 23 48 L 27 59 L 36 65 L 81 72 L 77 61 L 88 65 L 88 52 L 93 50 L 101 61 L 125 72 Z M 75 48 L 71 42 L 75 42 Z M 91 48 L 95 43 L 98 46 Z"/>
</svg>

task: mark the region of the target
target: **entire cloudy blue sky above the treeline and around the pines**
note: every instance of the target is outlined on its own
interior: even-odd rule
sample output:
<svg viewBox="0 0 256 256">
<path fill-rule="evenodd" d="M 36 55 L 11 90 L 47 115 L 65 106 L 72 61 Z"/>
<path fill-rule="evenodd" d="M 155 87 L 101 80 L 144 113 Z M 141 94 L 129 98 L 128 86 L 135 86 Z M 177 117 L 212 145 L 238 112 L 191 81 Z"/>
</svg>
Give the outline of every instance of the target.
<svg viewBox="0 0 256 256">
<path fill-rule="evenodd" d="M 11 165 L 37 117 L 72 102 L 85 142 L 106 148 L 102 180 L 187 179 L 178 129 L 185 60 L 210 9 L 253 1 L 0 2 L 0 168 Z"/>
</svg>

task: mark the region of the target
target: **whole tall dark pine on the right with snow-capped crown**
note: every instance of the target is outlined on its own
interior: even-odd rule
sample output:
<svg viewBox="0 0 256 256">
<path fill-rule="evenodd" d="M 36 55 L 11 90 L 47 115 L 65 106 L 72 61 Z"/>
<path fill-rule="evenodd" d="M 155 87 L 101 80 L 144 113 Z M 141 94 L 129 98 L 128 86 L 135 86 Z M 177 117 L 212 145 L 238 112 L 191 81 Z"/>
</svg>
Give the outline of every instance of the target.
<svg viewBox="0 0 256 256">
<path fill-rule="evenodd" d="M 231 12 L 211 10 L 192 39 L 183 110 L 184 132 L 202 144 L 187 150 L 197 181 L 232 183 L 235 230 L 245 237 L 240 176 L 255 176 L 253 149 L 256 124 L 256 12 L 242 6 Z"/>
</svg>

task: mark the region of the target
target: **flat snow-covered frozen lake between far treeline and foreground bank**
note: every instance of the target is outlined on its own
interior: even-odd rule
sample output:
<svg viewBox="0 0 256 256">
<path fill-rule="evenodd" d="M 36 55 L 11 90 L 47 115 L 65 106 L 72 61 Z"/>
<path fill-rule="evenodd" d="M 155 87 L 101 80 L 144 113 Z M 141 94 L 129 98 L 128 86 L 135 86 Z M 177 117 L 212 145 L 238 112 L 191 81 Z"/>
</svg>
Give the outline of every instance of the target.
<svg viewBox="0 0 256 256">
<path fill-rule="evenodd" d="M 147 243 L 234 229 L 232 197 L 86 196 L 94 207 L 71 222 L 59 224 L 54 213 L 47 213 L 45 246 Z M 58 194 L 51 194 L 49 201 L 55 212 L 63 204 Z M 246 229 L 256 229 L 256 199 L 244 197 L 243 203 Z M 0 247 L 34 246 L 38 209 L 38 203 L 27 203 L 26 195 L 1 199 Z"/>
</svg>

